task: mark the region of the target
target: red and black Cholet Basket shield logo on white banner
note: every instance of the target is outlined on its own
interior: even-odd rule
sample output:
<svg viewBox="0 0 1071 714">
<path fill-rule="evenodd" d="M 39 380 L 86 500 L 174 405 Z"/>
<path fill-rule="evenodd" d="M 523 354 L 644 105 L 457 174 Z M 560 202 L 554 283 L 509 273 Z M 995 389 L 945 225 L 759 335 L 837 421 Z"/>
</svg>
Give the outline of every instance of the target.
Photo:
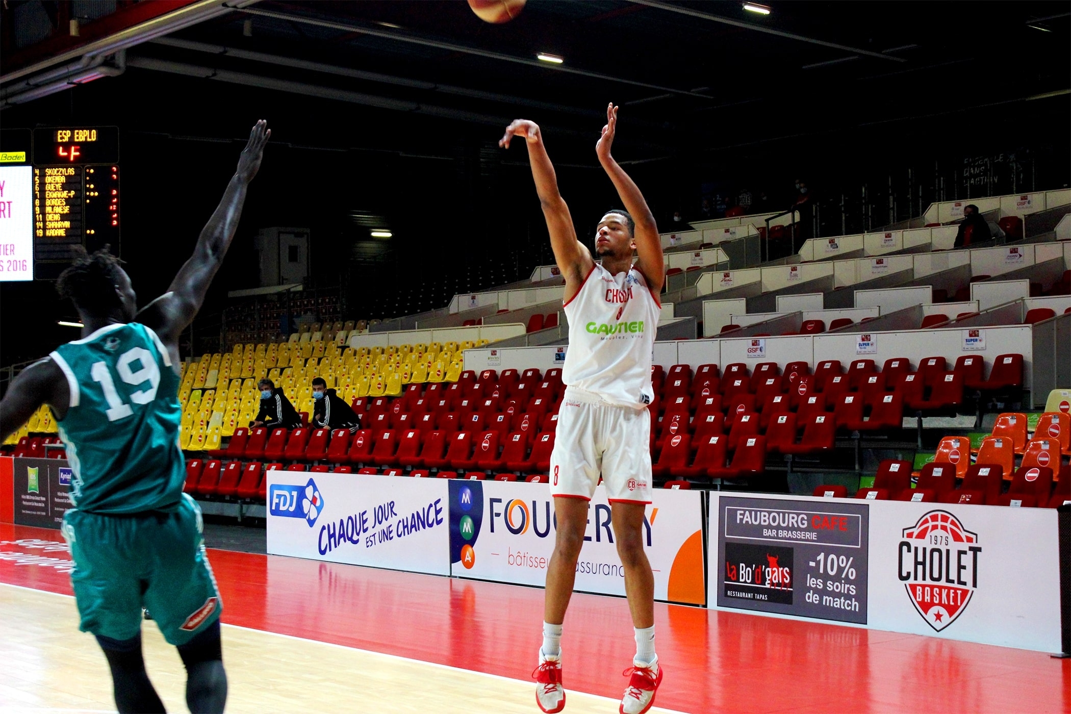
<svg viewBox="0 0 1071 714">
<path fill-rule="evenodd" d="M 897 571 L 916 611 L 940 632 L 955 622 L 978 589 L 978 534 L 947 511 L 931 511 L 903 531 Z"/>
</svg>

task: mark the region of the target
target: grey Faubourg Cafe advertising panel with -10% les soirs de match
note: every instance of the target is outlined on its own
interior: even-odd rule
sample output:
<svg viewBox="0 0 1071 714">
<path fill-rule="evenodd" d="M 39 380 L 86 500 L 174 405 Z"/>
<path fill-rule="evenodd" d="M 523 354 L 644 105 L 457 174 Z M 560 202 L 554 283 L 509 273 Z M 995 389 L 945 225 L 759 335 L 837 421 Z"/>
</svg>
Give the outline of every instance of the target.
<svg viewBox="0 0 1071 714">
<path fill-rule="evenodd" d="M 710 569 L 718 572 L 720 607 L 866 624 L 866 504 L 727 496 L 718 502 Z"/>
</svg>

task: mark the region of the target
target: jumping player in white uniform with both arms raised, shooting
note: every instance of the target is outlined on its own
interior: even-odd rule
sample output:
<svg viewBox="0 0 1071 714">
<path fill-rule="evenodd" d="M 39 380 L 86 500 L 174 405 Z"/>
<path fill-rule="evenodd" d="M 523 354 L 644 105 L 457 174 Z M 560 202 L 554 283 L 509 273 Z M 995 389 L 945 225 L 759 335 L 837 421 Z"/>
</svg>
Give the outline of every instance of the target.
<svg viewBox="0 0 1071 714">
<path fill-rule="evenodd" d="M 624 591 L 635 627 L 636 656 L 621 699 L 621 714 L 643 714 L 654 702 L 662 668 L 654 654 L 654 578 L 644 552 L 644 508 L 651 502 L 651 350 L 658 326 L 664 267 L 654 216 L 639 188 L 614 157 L 617 107 L 595 145 L 599 163 L 625 210 L 606 213 L 595 228 L 597 263 L 576 239 L 569 207 L 558 192 L 554 166 L 536 123 L 518 119 L 499 146 L 516 136 L 528 145 L 536 191 L 543 207 L 554 257 L 565 277 L 563 309 L 569 351 L 562 380 L 564 400 L 550 456 L 550 493 L 557 533 L 547 566 L 543 645 L 536 701 L 544 712 L 565 707 L 561 679 L 561 626 L 573 594 L 576 561 L 584 545 L 588 503 L 602 475 L 609 497 Z M 638 256 L 635 265 L 633 254 Z"/>
</svg>

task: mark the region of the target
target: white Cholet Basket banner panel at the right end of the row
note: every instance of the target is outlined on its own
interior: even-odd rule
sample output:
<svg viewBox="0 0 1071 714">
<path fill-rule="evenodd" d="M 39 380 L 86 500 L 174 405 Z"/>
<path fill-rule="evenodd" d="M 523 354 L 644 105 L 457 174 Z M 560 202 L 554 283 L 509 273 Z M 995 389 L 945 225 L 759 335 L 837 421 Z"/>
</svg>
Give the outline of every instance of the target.
<svg viewBox="0 0 1071 714">
<path fill-rule="evenodd" d="M 870 507 L 871 627 L 1060 651 L 1055 510 Z"/>
</svg>

